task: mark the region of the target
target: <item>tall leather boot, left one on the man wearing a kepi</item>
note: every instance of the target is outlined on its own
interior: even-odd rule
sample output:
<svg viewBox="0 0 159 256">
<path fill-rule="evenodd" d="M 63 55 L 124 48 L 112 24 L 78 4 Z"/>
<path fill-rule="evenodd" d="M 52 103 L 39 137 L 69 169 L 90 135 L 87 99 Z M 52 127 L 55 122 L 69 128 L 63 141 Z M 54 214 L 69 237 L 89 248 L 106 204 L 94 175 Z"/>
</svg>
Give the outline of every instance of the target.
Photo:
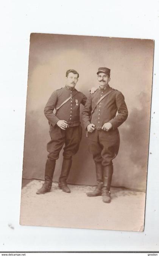
<svg viewBox="0 0 159 256">
<path fill-rule="evenodd" d="M 101 162 L 95 162 L 95 170 L 97 176 L 97 187 L 94 191 L 86 193 L 88 197 L 97 197 L 101 195 L 101 190 L 103 187 L 103 166 Z"/>
</svg>

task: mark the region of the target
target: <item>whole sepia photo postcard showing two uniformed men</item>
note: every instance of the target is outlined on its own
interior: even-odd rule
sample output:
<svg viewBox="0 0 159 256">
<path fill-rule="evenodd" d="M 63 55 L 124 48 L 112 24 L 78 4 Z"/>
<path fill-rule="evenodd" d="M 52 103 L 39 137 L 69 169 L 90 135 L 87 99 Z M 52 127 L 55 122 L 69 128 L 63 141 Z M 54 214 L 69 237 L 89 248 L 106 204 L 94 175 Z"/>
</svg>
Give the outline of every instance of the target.
<svg viewBox="0 0 159 256">
<path fill-rule="evenodd" d="M 154 41 L 30 36 L 20 224 L 143 231 Z"/>
</svg>

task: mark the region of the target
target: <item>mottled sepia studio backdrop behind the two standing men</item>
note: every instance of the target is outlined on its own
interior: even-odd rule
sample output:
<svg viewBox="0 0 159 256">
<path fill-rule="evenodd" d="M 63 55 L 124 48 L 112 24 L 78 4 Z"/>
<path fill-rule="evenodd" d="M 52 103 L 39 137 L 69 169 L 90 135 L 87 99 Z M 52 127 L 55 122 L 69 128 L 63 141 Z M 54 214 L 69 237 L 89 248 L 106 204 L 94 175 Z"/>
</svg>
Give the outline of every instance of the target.
<svg viewBox="0 0 159 256">
<path fill-rule="evenodd" d="M 154 42 L 146 39 L 31 34 L 23 157 L 23 178 L 44 180 L 50 140 L 44 107 L 51 93 L 65 86 L 65 72 L 80 74 L 76 89 L 86 96 L 98 87 L 98 67 L 111 69 L 109 85 L 125 96 L 129 116 L 119 128 L 120 149 L 114 159 L 112 186 L 145 190 L 147 179 Z M 81 106 L 81 111 L 83 106 Z M 81 125 L 82 120 L 81 120 Z M 62 151 L 53 180 L 58 181 Z M 68 183 L 95 185 L 95 164 L 86 131 Z"/>
</svg>

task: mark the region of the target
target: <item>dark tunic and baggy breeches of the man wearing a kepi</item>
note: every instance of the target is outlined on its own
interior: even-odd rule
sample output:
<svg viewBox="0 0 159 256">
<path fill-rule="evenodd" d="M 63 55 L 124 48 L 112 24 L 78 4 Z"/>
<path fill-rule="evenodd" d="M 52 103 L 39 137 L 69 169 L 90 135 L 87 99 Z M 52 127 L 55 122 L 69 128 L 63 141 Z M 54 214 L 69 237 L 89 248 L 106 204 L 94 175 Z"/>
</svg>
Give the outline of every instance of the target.
<svg viewBox="0 0 159 256">
<path fill-rule="evenodd" d="M 99 88 L 94 94 L 90 94 L 82 112 L 84 127 L 87 128 L 90 123 L 95 125 L 95 130 L 92 133 L 87 133 L 89 152 L 92 153 L 94 161 L 102 162 L 103 166 L 112 164 L 112 159 L 117 156 L 120 145 L 117 127 L 128 117 L 128 109 L 123 94 L 113 89 L 98 103 L 90 120 L 91 111 L 98 100 L 111 90 L 112 88 L 108 85 L 104 89 Z M 111 130 L 101 130 L 101 127 L 107 122 L 112 124 Z"/>
</svg>

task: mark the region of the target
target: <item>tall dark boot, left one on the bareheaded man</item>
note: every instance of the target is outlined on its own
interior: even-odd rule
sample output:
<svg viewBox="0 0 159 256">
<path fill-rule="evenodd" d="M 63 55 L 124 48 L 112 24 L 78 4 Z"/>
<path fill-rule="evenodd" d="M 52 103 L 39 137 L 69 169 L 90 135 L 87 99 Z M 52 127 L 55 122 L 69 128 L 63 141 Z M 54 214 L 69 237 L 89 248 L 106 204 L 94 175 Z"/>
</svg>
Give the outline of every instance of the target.
<svg viewBox="0 0 159 256">
<path fill-rule="evenodd" d="M 50 192 L 52 180 L 53 180 L 53 173 L 55 170 L 56 160 L 49 160 L 47 159 L 45 165 L 45 182 L 42 185 L 41 189 L 37 190 L 36 194 L 45 194 Z"/>
</svg>

